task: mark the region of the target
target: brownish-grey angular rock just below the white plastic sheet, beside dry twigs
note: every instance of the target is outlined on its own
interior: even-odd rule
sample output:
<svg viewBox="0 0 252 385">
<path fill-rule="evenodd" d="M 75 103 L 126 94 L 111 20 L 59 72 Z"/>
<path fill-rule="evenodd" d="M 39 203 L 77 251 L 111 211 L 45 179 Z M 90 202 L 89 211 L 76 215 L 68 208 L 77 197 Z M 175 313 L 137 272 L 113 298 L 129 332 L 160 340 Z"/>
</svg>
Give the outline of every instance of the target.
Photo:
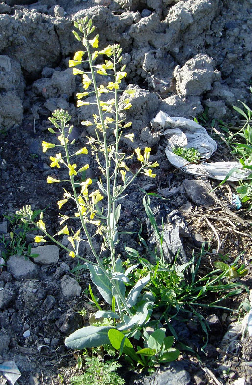
<svg viewBox="0 0 252 385">
<path fill-rule="evenodd" d="M 208 209 L 215 204 L 214 194 L 209 193 L 209 191 L 212 190 L 209 182 L 195 179 L 184 179 L 183 186 L 188 197 L 197 206 L 203 206 Z"/>
</svg>

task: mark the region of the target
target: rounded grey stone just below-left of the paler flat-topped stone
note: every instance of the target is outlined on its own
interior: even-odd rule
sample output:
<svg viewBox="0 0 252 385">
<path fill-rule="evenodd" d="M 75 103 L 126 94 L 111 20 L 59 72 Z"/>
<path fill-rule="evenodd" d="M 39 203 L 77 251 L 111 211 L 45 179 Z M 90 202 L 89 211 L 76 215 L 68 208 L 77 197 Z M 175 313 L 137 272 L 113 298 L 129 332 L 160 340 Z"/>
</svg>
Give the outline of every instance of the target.
<svg viewBox="0 0 252 385">
<path fill-rule="evenodd" d="M 23 255 L 11 255 L 7 261 L 7 271 L 16 280 L 36 278 L 39 275 L 39 268 Z"/>
</svg>

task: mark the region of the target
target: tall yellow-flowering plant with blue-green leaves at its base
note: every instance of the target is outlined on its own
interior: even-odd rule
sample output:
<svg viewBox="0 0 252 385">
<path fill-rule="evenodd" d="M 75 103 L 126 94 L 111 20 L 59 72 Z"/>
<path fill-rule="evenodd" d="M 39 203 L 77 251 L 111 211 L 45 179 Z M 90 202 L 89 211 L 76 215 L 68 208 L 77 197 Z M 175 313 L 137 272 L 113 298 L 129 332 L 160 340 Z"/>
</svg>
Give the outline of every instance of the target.
<svg viewBox="0 0 252 385">
<path fill-rule="evenodd" d="M 73 126 L 69 126 L 71 116 L 67 111 L 56 110 L 49 118 L 54 128 L 49 131 L 57 134 L 57 144 L 47 143 L 43 141 L 43 151 L 49 149 L 57 150 L 57 153 L 50 156 L 52 168 L 60 169 L 65 167 L 68 171 L 69 182 L 72 192 L 65 190 L 63 197 L 57 202 L 59 209 L 64 208 L 68 201 L 74 201 L 76 211 L 72 217 L 60 215 L 60 225 L 63 227 L 54 235 L 50 235 L 45 223 L 42 221 L 43 216 L 37 223 L 32 221 L 32 211 L 29 206 L 23 207 L 19 211 L 23 215 L 23 219 L 29 223 L 37 225 L 37 228 L 44 233 L 43 236 L 37 235 L 36 242 L 54 241 L 56 244 L 68 251 L 69 256 L 78 257 L 84 260 L 86 267 L 90 271 L 92 282 L 97 286 L 100 294 L 105 302 L 109 305 L 110 310 L 98 311 L 96 317 L 114 319 L 113 329 L 124 330 L 126 335 L 134 335 L 150 317 L 154 299 L 151 294 L 142 290 L 148 284 L 150 275 L 141 277 L 137 283 L 133 283 L 130 291 L 126 288 L 129 282 L 128 274 L 135 267 L 132 266 L 125 270 L 120 257 L 116 257 L 115 247 L 119 242 L 118 236 L 118 220 L 120 217 L 120 199 L 125 197 L 125 190 L 137 178 L 140 173 L 154 178 L 156 174 L 152 169 L 159 166 L 157 162 L 149 161 L 151 148 L 146 147 L 143 152 L 140 148 L 135 150 L 139 163 L 139 169 L 134 174 L 127 166 L 126 154 L 119 151 L 119 143 L 122 137 L 134 141 L 134 133 L 124 133 L 126 128 L 131 127 L 131 122 L 124 123 L 125 120 L 120 120 L 120 112 L 131 108 L 129 97 L 134 96 L 134 90 L 129 89 L 125 92 L 128 98 L 119 106 L 119 92 L 122 79 L 127 75 L 125 65 L 121 65 L 122 49 L 120 45 L 109 45 L 102 50 L 97 50 L 93 53 L 93 48 L 98 48 L 99 35 L 92 36 L 95 27 L 92 25 L 92 20 L 78 19 L 74 23 L 78 32 L 74 31 L 74 36 L 78 41 L 82 41 L 84 49 L 75 53 L 73 60 L 69 60 L 69 67 L 73 68 L 73 74 L 82 77 L 83 92 L 78 92 L 77 107 L 89 105 L 88 99 L 90 94 L 96 97 L 97 114 L 93 115 L 92 121 L 86 120 L 82 124 L 84 126 L 93 125 L 95 128 L 95 138 L 88 137 L 87 145 L 91 147 L 91 153 L 98 163 L 98 169 L 101 172 L 101 177 L 97 182 L 98 188 L 93 188 L 92 179 L 81 179 L 81 174 L 89 167 L 88 164 L 78 165 L 80 155 L 87 154 L 87 147 L 80 148 L 77 151 L 72 151 L 73 142 L 69 142 L 69 135 Z M 103 64 L 96 65 L 95 60 L 105 56 L 108 59 L 104 60 Z M 84 71 L 82 64 L 89 64 L 89 71 Z M 86 68 L 86 67 L 85 67 Z M 103 75 L 104 78 L 109 76 L 107 85 L 103 80 L 103 84 L 98 84 L 97 74 Z M 111 94 L 111 97 L 103 99 L 104 94 Z M 113 140 L 111 138 L 113 134 Z M 60 147 L 60 148 L 59 148 Z M 132 154 L 134 155 L 134 154 Z M 59 170 L 60 171 L 60 170 Z M 54 176 L 47 177 L 47 183 L 66 182 L 56 179 Z M 103 207 L 102 207 L 103 205 Z M 104 207 L 106 206 L 106 208 Z M 69 220 L 78 219 L 80 227 L 77 231 L 73 231 L 69 227 Z M 92 230 L 92 228 L 94 230 Z M 91 230 L 90 230 L 91 229 Z M 78 254 L 79 242 L 82 241 L 80 233 L 84 232 L 86 240 L 89 242 L 92 253 L 95 257 L 95 263 L 91 263 L 83 256 Z M 101 250 L 98 253 L 93 246 L 93 237 L 96 235 L 103 236 Z M 62 245 L 58 240 L 59 236 L 68 235 L 68 240 L 72 249 Z M 110 265 L 103 265 L 102 257 L 104 250 L 109 250 Z M 130 321 L 132 319 L 132 321 Z M 95 330 L 94 330 L 95 329 Z M 76 347 L 76 333 L 80 337 L 78 339 L 78 348 L 101 346 L 110 343 L 108 331 L 109 326 L 89 326 L 76 331 L 71 336 L 66 338 L 66 345 Z"/>
</svg>

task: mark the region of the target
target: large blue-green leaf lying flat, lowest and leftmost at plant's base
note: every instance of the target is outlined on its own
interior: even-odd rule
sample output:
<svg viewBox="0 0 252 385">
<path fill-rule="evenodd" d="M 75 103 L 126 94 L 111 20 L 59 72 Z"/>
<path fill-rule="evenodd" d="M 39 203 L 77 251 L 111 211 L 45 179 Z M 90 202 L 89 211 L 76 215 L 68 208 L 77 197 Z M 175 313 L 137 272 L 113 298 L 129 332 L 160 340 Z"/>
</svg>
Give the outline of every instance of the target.
<svg viewBox="0 0 252 385">
<path fill-rule="evenodd" d="M 65 345 L 72 349 L 84 349 L 110 343 L 108 331 L 111 326 L 87 326 L 76 330 L 65 339 Z"/>
</svg>

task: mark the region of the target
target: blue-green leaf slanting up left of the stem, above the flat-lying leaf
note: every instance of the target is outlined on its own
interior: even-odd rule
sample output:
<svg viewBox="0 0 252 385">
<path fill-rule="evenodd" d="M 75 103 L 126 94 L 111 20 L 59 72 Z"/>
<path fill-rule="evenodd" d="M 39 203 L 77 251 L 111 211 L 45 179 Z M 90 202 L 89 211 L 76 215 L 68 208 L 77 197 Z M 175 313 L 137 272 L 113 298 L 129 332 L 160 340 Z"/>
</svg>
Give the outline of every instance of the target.
<svg viewBox="0 0 252 385">
<path fill-rule="evenodd" d="M 111 305 L 112 302 L 112 289 L 111 283 L 106 276 L 106 274 L 102 271 L 99 266 L 93 266 L 91 264 L 86 263 L 90 271 L 90 278 L 94 285 L 97 286 L 100 294 L 103 296 L 106 302 Z"/>
</svg>

